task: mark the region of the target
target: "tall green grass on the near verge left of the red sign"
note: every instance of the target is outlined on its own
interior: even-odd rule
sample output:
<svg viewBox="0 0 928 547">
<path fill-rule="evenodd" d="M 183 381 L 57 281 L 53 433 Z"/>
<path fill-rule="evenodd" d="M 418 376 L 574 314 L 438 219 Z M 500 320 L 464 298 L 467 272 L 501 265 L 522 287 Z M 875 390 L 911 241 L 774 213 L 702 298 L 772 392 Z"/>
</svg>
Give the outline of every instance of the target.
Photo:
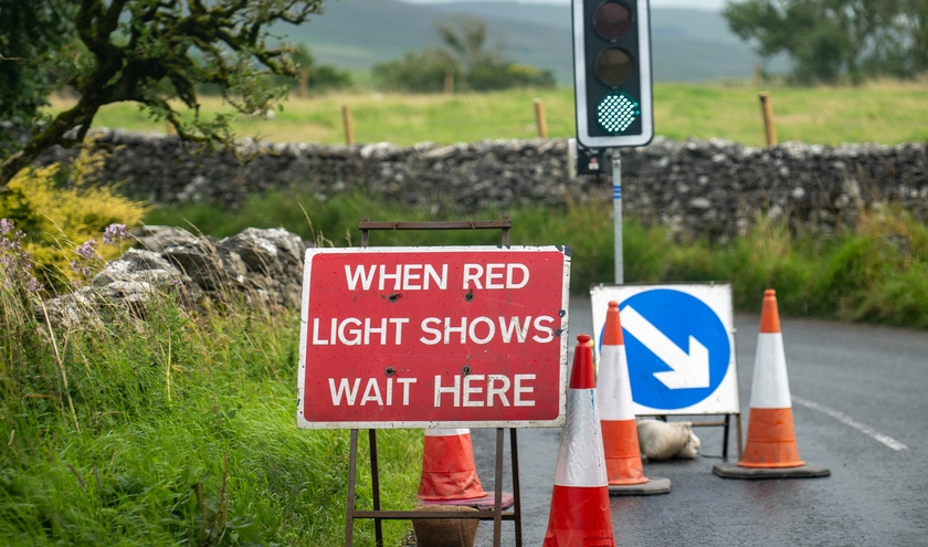
<svg viewBox="0 0 928 547">
<path fill-rule="evenodd" d="M 6 281 L 0 545 L 341 541 L 348 432 L 296 429 L 295 312 L 198 316 L 164 297 L 144 319 L 114 309 L 66 327 L 36 319 L 35 297 Z M 381 439 L 383 498 L 410 508 L 421 433 Z M 390 545 L 407 528 L 390 523 Z M 358 526 L 359 545 L 372 536 Z"/>
</svg>

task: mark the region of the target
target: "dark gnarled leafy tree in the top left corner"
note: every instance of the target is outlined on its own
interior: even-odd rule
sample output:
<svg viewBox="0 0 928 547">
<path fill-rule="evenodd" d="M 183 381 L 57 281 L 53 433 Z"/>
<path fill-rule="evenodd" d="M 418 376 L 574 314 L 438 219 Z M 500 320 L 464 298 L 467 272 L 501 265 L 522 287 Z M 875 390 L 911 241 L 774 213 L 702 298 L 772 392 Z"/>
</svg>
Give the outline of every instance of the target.
<svg viewBox="0 0 928 547">
<path fill-rule="evenodd" d="M 219 86 L 222 96 L 239 113 L 266 112 L 268 105 L 286 94 L 286 87 L 272 88 L 266 74 L 296 76 L 289 56 L 293 49 L 278 43 L 267 28 L 278 21 L 299 24 L 321 12 L 323 0 L 0 0 L 0 20 L 7 12 L 22 13 L 23 20 L 57 17 L 61 36 L 42 33 L 44 42 L 30 51 L 21 50 L 27 62 L 17 69 L 24 74 L 19 90 L 29 93 L 19 118 L 30 119 L 44 99 L 49 86 L 65 85 L 80 98 L 70 109 L 40 127 L 24 146 L 0 165 L 0 191 L 20 169 L 54 145 L 77 146 L 97 111 L 107 104 L 135 101 L 155 119 L 167 119 L 186 141 L 234 150 L 229 115 L 211 119 L 200 116 L 198 84 Z M 72 15 L 73 14 L 73 15 Z M 30 33 L 14 24 L 0 27 L 0 45 L 31 40 Z M 74 45 L 52 59 L 67 63 L 41 62 L 74 36 Z M 83 51 L 82 51 L 83 50 Z M 15 50 L 11 50 L 15 51 Z M 6 54 L 4 57 L 12 57 Z M 19 60 L 0 64 L 20 63 Z M 45 74 L 61 69 L 54 78 Z M 44 73 L 44 74 L 43 74 Z M 29 82 L 38 82 L 30 84 Z M 30 103 L 31 102 L 31 103 Z M 184 120 L 177 103 L 193 111 Z M 30 104 L 32 106 L 30 106 Z M 23 114 L 25 113 L 25 114 Z M 32 118 L 34 118 L 34 114 Z M 7 119 L 4 114 L 4 120 Z M 72 136 L 70 130 L 75 129 Z"/>
</svg>

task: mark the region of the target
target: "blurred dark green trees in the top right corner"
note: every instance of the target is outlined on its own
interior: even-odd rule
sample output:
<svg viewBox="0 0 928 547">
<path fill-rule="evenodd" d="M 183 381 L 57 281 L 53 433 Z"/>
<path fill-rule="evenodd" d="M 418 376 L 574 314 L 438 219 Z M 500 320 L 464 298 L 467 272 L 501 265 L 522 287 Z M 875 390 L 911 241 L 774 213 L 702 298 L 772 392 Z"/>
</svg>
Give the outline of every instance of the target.
<svg viewBox="0 0 928 547">
<path fill-rule="evenodd" d="M 723 15 L 761 57 L 788 54 L 803 83 L 928 71 L 928 0 L 745 0 Z"/>
</svg>

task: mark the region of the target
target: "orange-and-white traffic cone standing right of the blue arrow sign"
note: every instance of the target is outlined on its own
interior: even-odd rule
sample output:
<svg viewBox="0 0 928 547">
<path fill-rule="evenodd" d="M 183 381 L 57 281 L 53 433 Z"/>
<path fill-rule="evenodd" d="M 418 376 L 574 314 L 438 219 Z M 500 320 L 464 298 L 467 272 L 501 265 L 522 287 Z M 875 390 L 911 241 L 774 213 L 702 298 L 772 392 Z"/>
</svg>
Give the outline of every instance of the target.
<svg viewBox="0 0 928 547">
<path fill-rule="evenodd" d="M 805 478 L 829 476 L 822 465 L 799 457 L 793 428 L 792 399 L 777 292 L 763 294 L 757 340 L 748 440 L 738 465 L 716 465 L 713 473 L 726 478 Z"/>
</svg>

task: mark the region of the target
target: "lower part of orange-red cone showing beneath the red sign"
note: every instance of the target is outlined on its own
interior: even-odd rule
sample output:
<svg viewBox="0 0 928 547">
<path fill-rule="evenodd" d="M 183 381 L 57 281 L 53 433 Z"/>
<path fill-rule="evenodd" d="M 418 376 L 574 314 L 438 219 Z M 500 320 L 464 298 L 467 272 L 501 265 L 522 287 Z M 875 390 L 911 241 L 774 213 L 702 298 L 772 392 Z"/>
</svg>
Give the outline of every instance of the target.
<svg viewBox="0 0 928 547">
<path fill-rule="evenodd" d="M 494 506 L 493 494 L 484 492 L 477 476 L 471 430 L 425 430 L 416 497 L 424 505 Z M 513 494 L 504 494 L 503 508 L 512 506 L 513 501 Z"/>
</svg>

